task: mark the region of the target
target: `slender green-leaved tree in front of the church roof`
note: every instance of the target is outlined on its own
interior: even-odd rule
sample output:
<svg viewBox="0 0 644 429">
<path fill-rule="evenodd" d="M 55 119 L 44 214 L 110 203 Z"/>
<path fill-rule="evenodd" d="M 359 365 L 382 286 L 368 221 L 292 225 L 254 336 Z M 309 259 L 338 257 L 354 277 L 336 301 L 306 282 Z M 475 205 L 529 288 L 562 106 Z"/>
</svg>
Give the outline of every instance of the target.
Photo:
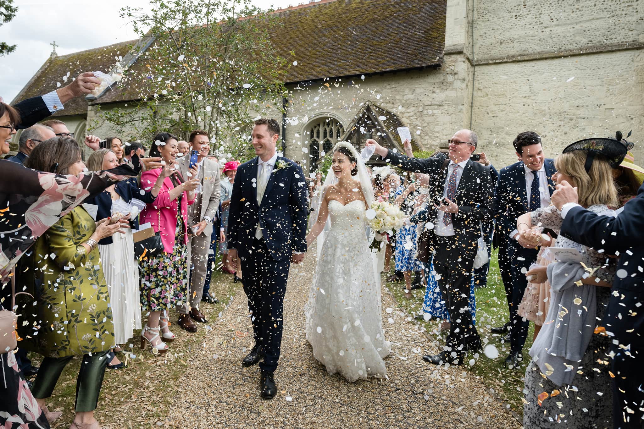
<svg viewBox="0 0 644 429">
<path fill-rule="evenodd" d="M 104 118 L 148 139 L 156 131 L 187 138 L 205 129 L 214 147 L 245 158 L 252 120 L 281 113 L 286 60 L 271 47 L 278 25 L 251 0 L 151 0 L 152 10 L 124 8 L 151 46 L 120 85 L 140 87 L 140 100 Z M 143 83 L 142 83 L 143 82 Z"/>
</svg>

